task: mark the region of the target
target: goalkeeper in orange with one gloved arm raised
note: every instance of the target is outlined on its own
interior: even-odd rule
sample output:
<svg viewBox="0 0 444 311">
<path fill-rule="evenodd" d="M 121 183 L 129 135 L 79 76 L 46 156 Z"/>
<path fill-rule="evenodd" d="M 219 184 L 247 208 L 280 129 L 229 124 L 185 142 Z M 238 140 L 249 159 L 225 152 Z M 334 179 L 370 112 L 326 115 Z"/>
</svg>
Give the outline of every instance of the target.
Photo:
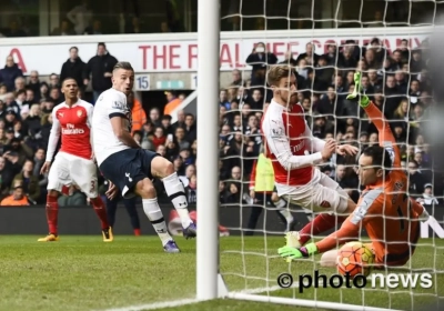
<svg viewBox="0 0 444 311">
<path fill-rule="evenodd" d="M 403 265 L 412 257 L 420 239 L 420 220 L 428 219 L 425 209 L 406 193 L 407 177 L 401 168 L 401 154 L 383 113 L 361 94 L 361 73 L 354 74 L 355 90 L 347 99 L 356 101 L 380 133 L 380 146 L 363 151 L 359 160 L 359 178 L 365 187 L 355 211 L 342 227 L 316 243 L 302 248 L 283 247 L 279 254 L 297 259 L 324 253 L 322 267 L 335 267 L 336 245 L 355 240 L 364 227 L 379 267 Z M 334 250 L 333 250 L 334 249 Z"/>
</svg>

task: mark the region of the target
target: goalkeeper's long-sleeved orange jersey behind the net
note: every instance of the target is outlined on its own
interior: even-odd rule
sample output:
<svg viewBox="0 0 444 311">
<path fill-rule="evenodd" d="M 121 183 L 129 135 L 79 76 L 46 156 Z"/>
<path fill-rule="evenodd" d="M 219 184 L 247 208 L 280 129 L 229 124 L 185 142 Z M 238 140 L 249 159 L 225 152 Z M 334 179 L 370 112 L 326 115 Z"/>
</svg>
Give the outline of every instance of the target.
<svg viewBox="0 0 444 311">
<path fill-rule="evenodd" d="M 372 240 L 376 263 L 404 264 L 420 238 L 418 211 L 422 207 L 407 197 L 407 177 L 401 167 L 401 153 L 383 113 L 370 103 L 365 108 L 379 130 L 380 144 L 392 158 L 392 171 L 377 184 L 367 187 L 355 211 L 341 229 L 316 243 L 320 252 L 356 237 L 364 225 Z"/>
</svg>

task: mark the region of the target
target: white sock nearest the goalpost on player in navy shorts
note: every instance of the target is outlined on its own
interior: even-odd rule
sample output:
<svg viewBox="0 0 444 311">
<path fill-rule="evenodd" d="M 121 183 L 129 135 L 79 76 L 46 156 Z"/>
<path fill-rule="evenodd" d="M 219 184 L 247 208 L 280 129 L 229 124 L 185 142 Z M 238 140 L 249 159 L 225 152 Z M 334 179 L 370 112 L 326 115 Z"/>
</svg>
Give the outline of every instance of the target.
<svg viewBox="0 0 444 311">
<path fill-rule="evenodd" d="M 175 172 L 162 179 L 162 182 L 165 187 L 168 197 L 178 211 L 182 227 L 188 228 L 193 221 L 191 220 L 188 211 L 188 200 L 182 182 L 179 180 L 179 177 Z"/>
</svg>

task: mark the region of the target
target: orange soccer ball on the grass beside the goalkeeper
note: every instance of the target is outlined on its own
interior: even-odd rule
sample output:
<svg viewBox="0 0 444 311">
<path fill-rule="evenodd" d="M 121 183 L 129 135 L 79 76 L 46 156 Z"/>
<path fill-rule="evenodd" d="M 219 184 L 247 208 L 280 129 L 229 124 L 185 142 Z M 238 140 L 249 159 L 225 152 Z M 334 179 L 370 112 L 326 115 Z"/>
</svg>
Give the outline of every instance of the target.
<svg viewBox="0 0 444 311">
<path fill-rule="evenodd" d="M 351 278 L 356 274 L 367 277 L 373 264 L 373 252 L 361 242 L 350 242 L 343 245 L 337 254 L 337 271 Z"/>
</svg>

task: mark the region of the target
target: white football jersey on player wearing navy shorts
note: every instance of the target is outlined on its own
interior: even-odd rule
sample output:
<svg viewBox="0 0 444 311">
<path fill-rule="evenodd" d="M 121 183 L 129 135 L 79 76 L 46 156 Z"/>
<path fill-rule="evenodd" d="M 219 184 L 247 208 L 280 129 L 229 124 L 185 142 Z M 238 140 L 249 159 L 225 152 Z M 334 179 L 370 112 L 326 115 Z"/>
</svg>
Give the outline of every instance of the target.
<svg viewBox="0 0 444 311">
<path fill-rule="evenodd" d="M 99 165 L 111 154 L 130 149 L 112 130 L 111 118 L 117 116 L 127 120 L 128 131 L 131 132 L 131 110 L 127 103 L 127 96 L 115 89 L 109 89 L 100 94 L 92 114 L 92 142 Z"/>
</svg>

